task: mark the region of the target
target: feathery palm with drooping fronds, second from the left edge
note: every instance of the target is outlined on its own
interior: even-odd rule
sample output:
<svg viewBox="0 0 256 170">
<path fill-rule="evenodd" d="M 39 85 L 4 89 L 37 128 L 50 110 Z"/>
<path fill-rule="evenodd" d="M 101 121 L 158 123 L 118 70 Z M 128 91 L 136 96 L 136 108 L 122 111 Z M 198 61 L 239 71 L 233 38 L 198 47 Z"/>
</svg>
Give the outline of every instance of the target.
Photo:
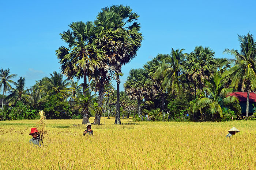
<svg viewBox="0 0 256 170">
<path fill-rule="evenodd" d="M 28 102 L 29 100 L 29 90 L 25 90 L 25 78 L 19 77 L 19 80 L 17 83 L 14 83 L 15 88 L 12 88 L 10 93 L 7 97 L 6 100 L 8 100 L 8 103 L 13 103 L 16 104 L 19 100 L 22 102 Z"/>
</svg>

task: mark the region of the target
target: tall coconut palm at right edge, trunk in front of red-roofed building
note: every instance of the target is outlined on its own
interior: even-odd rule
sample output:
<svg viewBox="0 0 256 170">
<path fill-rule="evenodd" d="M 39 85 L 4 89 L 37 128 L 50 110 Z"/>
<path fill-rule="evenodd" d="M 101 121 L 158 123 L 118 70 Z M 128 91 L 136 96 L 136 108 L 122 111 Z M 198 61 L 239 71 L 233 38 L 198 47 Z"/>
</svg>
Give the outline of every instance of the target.
<svg viewBox="0 0 256 170">
<path fill-rule="evenodd" d="M 235 66 L 231 67 L 227 73 L 232 78 L 231 86 L 237 88 L 241 84 L 242 91 L 247 91 L 246 117 L 248 117 L 250 91 L 256 88 L 256 41 L 250 33 L 245 36 L 238 35 L 238 40 L 240 42 L 240 52 L 226 48 L 224 53 L 236 57 Z"/>
</svg>

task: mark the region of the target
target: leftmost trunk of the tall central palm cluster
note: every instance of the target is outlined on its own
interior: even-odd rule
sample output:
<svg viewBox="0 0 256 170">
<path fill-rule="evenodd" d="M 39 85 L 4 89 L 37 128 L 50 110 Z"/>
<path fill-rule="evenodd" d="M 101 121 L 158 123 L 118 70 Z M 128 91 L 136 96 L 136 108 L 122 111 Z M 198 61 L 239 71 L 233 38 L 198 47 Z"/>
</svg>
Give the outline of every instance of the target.
<svg viewBox="0 0 256 170">
<path fill-rule="evenodd" d="M 83 76 L 83 96 L 86 97 L 88 95 L 88 85 L 87 85 L 87 79 L 86 79 L 86 74 L 84 73 Z M 83 122 L 82 124 L 86 124 L 89 121 L 89 102 L 83 101 Z"/>
</svg>

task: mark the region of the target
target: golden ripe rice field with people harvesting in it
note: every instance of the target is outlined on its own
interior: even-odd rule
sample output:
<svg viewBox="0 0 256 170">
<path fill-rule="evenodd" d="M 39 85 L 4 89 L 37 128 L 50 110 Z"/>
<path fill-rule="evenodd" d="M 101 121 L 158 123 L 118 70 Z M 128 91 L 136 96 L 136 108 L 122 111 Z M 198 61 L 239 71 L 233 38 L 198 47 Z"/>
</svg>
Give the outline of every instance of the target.
<svg viewBox="0 0 256 170">
<path fill-rule="evenodd" d="M 46 120 L 43 147 L 33 147 L 38 120 L 0 122 L 0 169 L 256 169 L 256 122 L 132 122 L 105 119 L 83 137 L 82 120 Z M 91 118 L 91 122 L 93 118 Z M 102 118 L 103 123 L 103 118 Z M 73 126 L 73 124 L 77 126 Z M 227 130 L 240 133 L 227 139 Z"/>
</svg>

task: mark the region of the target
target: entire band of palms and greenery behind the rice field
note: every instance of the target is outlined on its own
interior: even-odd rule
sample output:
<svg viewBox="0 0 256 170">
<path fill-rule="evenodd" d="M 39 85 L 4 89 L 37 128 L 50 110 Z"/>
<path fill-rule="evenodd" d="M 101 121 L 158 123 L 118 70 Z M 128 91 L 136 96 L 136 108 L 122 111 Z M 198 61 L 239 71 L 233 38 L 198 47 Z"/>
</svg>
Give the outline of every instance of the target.
<svg viewBox="0 0 256 170">
<path fill-rule="evenodd" d="M 93 124 L 100 124 L 105 114 L 114 115 L 115 124 L 121 124 L 120 114 L 133 114 L 135 120 L 230 120 L 241 114 L 238 99 L 229 96 L 236 90 L 248 94 L 248 116 L 249 92 L 256 86 L 256 42 L 250 33 L 238 35 L 240 51 L 224 50 L 235 59 L 216 58 L 210 47 L 202 46 L 189 54 L 173 48 L 170 54 L 158 54 L 143 68 L 131 69 L 120 92 L 121 67 L 136 57 L 143 40 L 138 18 L 129 6 L 113 5 L 102 8 L 94 21 L 69 24 L 60 33 L 67 46 L 55 51 L 61 72 L 30 89 L 25 90 L 24 78 L 13 82 L 16 75 L 2 68 L 2 103 L 11 106 L 3 107 L 2 118 L 15 119 L 21 110 L 23 118 L 29 113 L 32 118 L 35 110 L 44 110 L 52 119 L 80 115 L 83 124 L 92 115 Z M 83 83 L 78 84 L 80 79 Z"/>
</svg>

